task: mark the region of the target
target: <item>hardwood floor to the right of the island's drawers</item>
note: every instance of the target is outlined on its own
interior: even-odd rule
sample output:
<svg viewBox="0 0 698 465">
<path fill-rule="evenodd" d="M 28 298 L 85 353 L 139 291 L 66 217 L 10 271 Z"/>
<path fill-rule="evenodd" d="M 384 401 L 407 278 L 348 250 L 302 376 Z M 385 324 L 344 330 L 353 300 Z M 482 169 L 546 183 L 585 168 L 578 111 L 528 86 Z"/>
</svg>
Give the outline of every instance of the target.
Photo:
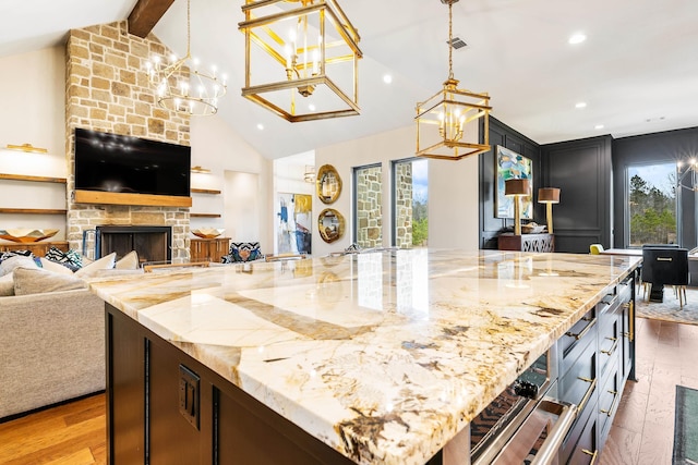
<svg viewBox="0 0 698 465">
<path fill-rule="evenodd" d="M 637 319 L 637 382 L 628 381 L 599 463 L 671 465 L 676 384 L 698 389 L 698 326 Z"/>
</svg>

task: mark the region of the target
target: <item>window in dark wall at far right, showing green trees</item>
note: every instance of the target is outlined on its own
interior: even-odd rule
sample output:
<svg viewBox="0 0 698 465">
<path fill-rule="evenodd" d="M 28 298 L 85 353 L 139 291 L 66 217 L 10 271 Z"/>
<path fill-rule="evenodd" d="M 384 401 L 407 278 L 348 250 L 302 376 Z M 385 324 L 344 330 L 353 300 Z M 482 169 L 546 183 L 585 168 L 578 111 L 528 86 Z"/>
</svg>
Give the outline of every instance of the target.
<svg viewBox="0 0 698 465">
<path fill-rule="evenodd" d="M 628 167 L 629 245 L 676 243 L 676 164 Z"/>
</svg>

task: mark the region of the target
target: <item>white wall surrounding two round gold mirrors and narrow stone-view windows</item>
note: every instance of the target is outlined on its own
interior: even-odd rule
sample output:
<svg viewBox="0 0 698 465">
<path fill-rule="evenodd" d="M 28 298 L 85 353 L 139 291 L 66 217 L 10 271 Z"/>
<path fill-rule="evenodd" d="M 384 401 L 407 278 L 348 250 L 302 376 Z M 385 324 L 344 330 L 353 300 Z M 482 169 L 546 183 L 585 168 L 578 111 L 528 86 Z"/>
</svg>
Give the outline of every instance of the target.
<svg viewBox="0 0 698 465">
<path fill-rule="evenodd" d="M 358 117 L 360 118 L 360 117 Z M 338 210 L 346 220 L 345 235 L 325 243 L 317 230 L 313 231 L 313 255 L 339 252 L 352 242 L 352 180 L 353 167 L 381 162 L 383 166 L 383 245 L 392 237 L 390 161 L 414 156 L 416 127 L 402 127 L 370 137 L 349 140 L 315 151 L 315 166 L 334 166 L 342 180 L 342 192 L 337 201 L 325 205 L 313 197 L 313 217 L 324 208 Z M 477 249 L 479 243 L 478 157 L 460 161 L 429 160 L 429 245 L 430 247 L 458 247 Z"/>
</svg>

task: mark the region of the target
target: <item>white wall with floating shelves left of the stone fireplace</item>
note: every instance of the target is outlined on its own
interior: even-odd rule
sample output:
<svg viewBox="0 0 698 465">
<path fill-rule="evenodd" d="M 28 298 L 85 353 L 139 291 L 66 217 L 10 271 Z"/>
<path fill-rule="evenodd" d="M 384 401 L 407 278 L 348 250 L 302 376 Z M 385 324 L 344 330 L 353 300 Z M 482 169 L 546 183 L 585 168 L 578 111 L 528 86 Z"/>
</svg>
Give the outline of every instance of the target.
<svg viewBox="0 0 698 465">
<path fill-rule="evenodd" d="M 63 47 L 52 47 L 0 58 L 0 172 L 65 178 L 63 54 Z M 8 150 L 8 144 L 32 144 L 48 154 Z M 65 209 L 65 184 L 0 181 L 0 207 Z M 2 229 L 58 229 L 53 240 L 65 238 L 64 215 L 0 216 Z"/>
</svg>

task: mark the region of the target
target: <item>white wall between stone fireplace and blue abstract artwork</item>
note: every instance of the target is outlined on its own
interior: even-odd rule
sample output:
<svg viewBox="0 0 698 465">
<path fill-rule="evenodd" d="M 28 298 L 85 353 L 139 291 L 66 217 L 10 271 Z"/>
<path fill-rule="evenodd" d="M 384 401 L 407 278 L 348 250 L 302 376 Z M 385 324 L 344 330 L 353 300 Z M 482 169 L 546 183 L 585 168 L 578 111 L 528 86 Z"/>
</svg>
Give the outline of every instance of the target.
<svg viewBox="0 0 698 465">
<path fill-rule="evenodd" d="M 209 174 L 192 175 L 192 187 L 222 191 L 221 195 L 192 194 L 192 212 L 221 213 L 222 218 L 192 218 L 191 228 L 225 228 L 224 235 L 233 242 L 257 241 L 264 253 L 274 247 L 274 175 L 273 162 L 265 159 L 248 145 L 238 133 L 217 115 L 192 118 L 191 120 L 192 166 L 201 164 L 210 170 Z M 242 176 L 245 182 L 226 183 L 234 180 L 236 173 L 251 173 L 258 176 L 258 188 L 250 192 L 253 176 Z M 251 181 L 250 181 L 251 182 Z M 240 189 L 240 191 L 238 191 Z M 258 215 L 242 215 L 241 208 L 250 194 L 255 196 Z M 244 208 L 243 208 L 244 207 Z M 250 225 L 250 221 L 256 224 Z M 248 237 L 257 232 L 257 237 Z"/>
</svg>

